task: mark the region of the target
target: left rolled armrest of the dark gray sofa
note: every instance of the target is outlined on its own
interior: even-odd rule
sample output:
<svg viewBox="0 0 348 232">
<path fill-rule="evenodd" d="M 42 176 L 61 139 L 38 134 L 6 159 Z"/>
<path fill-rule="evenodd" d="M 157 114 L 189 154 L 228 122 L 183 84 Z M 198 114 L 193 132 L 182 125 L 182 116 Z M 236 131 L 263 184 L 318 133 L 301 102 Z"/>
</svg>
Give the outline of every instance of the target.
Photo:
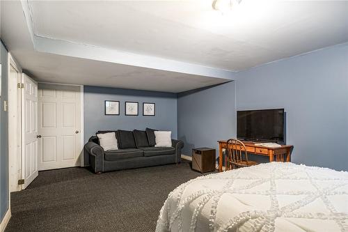
<svg viewBox="0 0 348 232">
<path fill-rule="evenodd" d="M 104 149 L 93 141 L 89 141 L 84 148 L 89 155 L 89 163 L 93 171 L 95 173 L 104 171 Z"/>
</svg>

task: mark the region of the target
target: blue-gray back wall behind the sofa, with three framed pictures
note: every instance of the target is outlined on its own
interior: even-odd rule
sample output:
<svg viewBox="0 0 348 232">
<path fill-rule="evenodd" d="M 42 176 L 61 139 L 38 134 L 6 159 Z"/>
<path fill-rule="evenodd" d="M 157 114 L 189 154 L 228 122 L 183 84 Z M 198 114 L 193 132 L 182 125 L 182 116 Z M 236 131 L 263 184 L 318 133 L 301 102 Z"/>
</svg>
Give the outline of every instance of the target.
<svg viewBox="0 0 348 232">
<path fill-rule="evenodd" d="M 120 116 L 104 115 L 104 100 L 120 101 Z M 125 101 L 139 102 L 139 116 L 125 116 Z M 143 116 L 143 102 L 155 102 L 156 116 Z M 84 86 L 84 139 L 97 130 L 171 130 L 177 138 L 177 95 L 155 91 Z"/>
</svg>

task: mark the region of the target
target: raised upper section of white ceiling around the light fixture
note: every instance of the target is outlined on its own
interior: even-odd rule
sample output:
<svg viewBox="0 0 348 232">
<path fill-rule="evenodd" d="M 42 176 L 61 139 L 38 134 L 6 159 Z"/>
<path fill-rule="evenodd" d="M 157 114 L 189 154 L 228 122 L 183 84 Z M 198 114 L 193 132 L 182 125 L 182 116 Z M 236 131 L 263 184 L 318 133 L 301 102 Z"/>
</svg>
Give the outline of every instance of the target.
<svg viewBox="0 0 348 232">
<path fill-rule="evenodd" d="M 31 1 L 40 36 L 242 70 L 348 40 L 348 1 Z"/>
</svg>

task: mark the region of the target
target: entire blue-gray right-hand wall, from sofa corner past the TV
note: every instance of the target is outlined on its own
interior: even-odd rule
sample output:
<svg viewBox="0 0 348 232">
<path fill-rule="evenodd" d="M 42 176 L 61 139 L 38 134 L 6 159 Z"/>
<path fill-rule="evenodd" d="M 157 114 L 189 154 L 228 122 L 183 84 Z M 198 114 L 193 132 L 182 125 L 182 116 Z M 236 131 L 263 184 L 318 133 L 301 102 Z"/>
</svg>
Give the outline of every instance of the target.
<svg viewBox="0 0 348 232">
<path fill-rule="evenodd" d="M 216 140 L 235 136 L 236 110 L 285 108 L 292 162 L 348 171 L 347 44 L 243 70 L 235 78 L 178 95 L 185 155 L 194 146 L 216 148 Z"/>
</svg>

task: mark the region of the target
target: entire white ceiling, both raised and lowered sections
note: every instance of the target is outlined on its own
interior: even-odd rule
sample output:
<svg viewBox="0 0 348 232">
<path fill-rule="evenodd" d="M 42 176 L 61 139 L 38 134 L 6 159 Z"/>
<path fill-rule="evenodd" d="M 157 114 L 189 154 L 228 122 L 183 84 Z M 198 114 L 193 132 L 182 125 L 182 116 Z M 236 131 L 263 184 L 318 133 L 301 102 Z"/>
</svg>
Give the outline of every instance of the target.
<svg viewBox="0 0 348 232">
<path fill-rule="evenodd" d="M 1 4 L 1 39 L 50 82 L 181 92 L 348 41 L 348 1 L 243 0 L 225 15 L 212 0 Z"/>
</svg>

